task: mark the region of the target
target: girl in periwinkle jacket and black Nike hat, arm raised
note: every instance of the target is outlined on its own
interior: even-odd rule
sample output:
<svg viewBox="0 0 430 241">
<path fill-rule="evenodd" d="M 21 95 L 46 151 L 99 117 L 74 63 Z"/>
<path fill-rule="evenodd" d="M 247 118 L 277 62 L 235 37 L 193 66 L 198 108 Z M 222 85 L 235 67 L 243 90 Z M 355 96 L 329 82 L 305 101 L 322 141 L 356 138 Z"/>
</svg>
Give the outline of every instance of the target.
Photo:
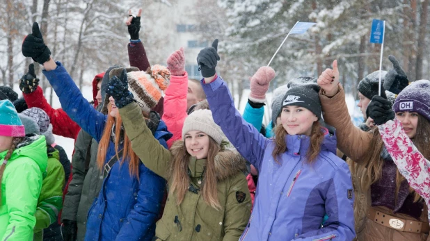
<svg viewBox="0 0 430 241">
<path fill-rule="evenodd" d="M 217 45 L 215 40 L 198 54 L 203 90 L 216 124 L 259 174 L 253 213 L 240 240 L 352 240 L 351 176 L 335 155 L 335 136 L 319 124 L 319 87 L 290 88 L 282 100 L 282 124 L 275 138 L 267 139 L 241 117 L 227 83 L 216 75 Z"/>
</svg>

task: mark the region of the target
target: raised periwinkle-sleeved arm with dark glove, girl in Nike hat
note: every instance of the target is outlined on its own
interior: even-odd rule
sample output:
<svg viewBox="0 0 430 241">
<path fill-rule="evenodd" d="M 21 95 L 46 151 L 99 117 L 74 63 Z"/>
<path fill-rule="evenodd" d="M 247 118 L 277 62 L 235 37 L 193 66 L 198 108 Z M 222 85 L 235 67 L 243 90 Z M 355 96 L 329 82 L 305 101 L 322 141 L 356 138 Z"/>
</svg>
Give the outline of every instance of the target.
<svg viewBox="0 0 430 241">
<path fill-rule="evenodd" d="M 221 126 L 225 136 L 248 162 L 260 169 L 261 161 L 266 149 L 267 140 L 260 131 L 241 117 L 234 108 L 234 102 L 227 84 L 216 76 L 216 63 L 219 60 L 216 48 L 218 40 L 212 47 L 202 49 L 197 57 L 202 76 L 203 90 L 205 90 L 212 115 L 216 124 Z"/>
</svg>

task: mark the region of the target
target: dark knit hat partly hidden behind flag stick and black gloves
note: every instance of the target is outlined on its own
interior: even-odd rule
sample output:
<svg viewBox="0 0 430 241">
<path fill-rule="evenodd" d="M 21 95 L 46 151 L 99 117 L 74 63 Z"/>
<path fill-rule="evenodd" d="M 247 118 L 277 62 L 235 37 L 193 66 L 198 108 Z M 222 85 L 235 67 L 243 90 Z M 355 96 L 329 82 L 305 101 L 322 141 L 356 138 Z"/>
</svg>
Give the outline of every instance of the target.
<svg viewBox="0 0 430 241">
<path fill-rule="evenodd" d="M 381 97 L 387 99 L 385 94 L 385 89 L 383 88 L 383 83 L 385 80 L 386 71 L 382 71 L 381 73 Z M 363 94 L 368 99 L 372 99 L 375 95 L 378 95 L 379 92 L 379 71 L 375 71 L 372 74 L 365 76 L 358 83 L 358 91 Z"/>
</svg>

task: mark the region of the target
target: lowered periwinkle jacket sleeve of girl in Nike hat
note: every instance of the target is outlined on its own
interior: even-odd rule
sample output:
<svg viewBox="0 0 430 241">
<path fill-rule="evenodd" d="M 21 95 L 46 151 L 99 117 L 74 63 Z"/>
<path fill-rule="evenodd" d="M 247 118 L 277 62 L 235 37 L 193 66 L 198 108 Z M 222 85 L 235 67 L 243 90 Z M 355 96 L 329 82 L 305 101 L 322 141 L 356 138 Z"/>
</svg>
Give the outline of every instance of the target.
<svg viewBox="0 0 430 241">
<path fill-rule="evenodd" d="M 295 240 L 353 240 L 356 237 L 353 188 L 347 163 L 339 167 L 326 194 L 328 219 L 324 227 L 299 235 Z"/>
</svg>

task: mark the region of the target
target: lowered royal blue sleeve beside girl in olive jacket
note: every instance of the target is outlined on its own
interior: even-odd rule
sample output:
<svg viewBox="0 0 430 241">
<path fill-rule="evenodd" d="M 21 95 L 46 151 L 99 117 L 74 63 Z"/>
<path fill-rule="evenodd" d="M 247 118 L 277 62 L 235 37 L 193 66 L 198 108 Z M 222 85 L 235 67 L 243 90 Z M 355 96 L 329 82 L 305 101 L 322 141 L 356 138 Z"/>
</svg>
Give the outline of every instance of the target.
<svg viewBox="0 0 430 241">
<path fill-rule="evenodd" d="M 166 182 L 143 164 L 139 171 L 137 203 L 116 235 L 117 241 L 150 240 L 152 237 L 148 239 L 148 235 L 154 235 L 152 226 L 159 215 Z"/>
</svg>

